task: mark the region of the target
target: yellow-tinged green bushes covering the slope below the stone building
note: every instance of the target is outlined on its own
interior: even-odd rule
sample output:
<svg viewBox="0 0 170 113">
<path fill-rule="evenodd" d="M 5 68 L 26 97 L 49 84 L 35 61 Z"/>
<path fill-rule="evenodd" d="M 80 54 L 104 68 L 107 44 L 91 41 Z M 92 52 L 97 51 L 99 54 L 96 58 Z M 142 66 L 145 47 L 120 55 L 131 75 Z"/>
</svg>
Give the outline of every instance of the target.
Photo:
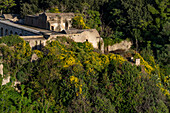
<svg viewBox="0 0 170 113">
<path fill-rule="evenodd" d="M 143 66 L 135 66 L 120 55 L 101 54 L 88 42 L 65 37 L 42 51 L 31 51 L 18 36 L 0 42 L 4 75 L 11 76 L 0 87 L 1 112 L 169 112 L 170 95 L 153 56 L 146 61 L 128 51 L 125 56 L 141 59 Z M 30 62 L 34 53 L 39 59 Z M 15 86 L 18 90 L 11 87 L 16 80 L 22 84 Z"/>
</svg>

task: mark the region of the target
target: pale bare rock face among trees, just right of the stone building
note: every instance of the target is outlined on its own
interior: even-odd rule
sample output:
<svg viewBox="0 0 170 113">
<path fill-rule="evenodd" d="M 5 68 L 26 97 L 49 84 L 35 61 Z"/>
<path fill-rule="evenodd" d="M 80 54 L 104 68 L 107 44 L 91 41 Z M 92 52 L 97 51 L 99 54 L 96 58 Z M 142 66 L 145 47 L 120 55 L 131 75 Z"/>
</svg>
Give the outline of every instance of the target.
<svg viewBox="0 0 170 113">
<path fill-rule="evenodd" d="M 130 41 L 122 41 L 121 43 L 116 43 L 112 46 L 108 46 L 108 52 L 111 51 L 116 51 L 116 50 L 124 50 L 127 51 L 128 49 L 130 49 L 132 46 L 132 42 Z"/>
</svg>

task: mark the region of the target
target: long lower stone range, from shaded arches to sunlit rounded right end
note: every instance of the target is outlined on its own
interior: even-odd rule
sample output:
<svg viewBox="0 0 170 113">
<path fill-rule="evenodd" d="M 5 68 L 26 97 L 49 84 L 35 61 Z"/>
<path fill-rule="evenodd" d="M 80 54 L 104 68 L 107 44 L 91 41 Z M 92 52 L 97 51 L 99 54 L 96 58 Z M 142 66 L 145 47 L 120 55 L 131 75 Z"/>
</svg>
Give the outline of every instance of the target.
<svg viewBox="0 0 170 113">
<path fill-rule="evenodd" d="M 66 30 L 65 33 L 57 33 L 44 29 L 21 26 L 9 21 L 0 20 L 0 37 L 10 34 L 17 34 L 25 41 L 28 41 L 32 49 L 41 49 L 46 45 L 46 41 L 53 39 L 55 40 L 57 36 L 65 36 L 70 37 L 75 42 L 88 41 L 93 45 L 94 48 L 100 49 L 102 52 L 104 52 L 103 39 L 100 37 L 96 29 L 74 29 Z"/>
</svg>

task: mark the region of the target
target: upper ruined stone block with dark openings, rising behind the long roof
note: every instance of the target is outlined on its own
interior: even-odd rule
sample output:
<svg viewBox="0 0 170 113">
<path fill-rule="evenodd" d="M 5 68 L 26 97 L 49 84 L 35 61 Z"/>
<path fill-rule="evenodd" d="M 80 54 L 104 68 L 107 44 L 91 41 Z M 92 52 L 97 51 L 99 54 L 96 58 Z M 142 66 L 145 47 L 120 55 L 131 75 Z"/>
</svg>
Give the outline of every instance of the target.
<svg viewBox="0 0 170 113">
<path fill-rule="evenodd" d="M 74 13 L 42 13 L 39 15 L 28 15 L 24 24 L 52 31 L 68 30 Z"/>
</svg>

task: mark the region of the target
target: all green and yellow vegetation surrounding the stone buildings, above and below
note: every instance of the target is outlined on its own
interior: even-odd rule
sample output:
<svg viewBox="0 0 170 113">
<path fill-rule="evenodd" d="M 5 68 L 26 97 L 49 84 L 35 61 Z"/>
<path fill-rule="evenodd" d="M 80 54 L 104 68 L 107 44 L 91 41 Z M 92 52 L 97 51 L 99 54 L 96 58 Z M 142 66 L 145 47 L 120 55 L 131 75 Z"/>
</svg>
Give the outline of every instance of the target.
<svg viewBox="0 0 170 113">
<path fill-rule="evenodd" d="M 1 86 L 2 111 L 168 112 L 169 0 L 1 0 L 0 10 L 22 17 L 75 12 L 74 27 L 97 29 L 106 46 L 131 40 L 133 50 L 124 56 L 140 58 L 144 65 L 100 54 L 87 42 L 65 40 L 66 46 L 60 40 L 31 51 L 19 37 L 3 37 L 4 74 L 23 85 L 20 93 L 10 84 Z M 39 60 L 31 63 L 33 53 Z"/>
</svg>

